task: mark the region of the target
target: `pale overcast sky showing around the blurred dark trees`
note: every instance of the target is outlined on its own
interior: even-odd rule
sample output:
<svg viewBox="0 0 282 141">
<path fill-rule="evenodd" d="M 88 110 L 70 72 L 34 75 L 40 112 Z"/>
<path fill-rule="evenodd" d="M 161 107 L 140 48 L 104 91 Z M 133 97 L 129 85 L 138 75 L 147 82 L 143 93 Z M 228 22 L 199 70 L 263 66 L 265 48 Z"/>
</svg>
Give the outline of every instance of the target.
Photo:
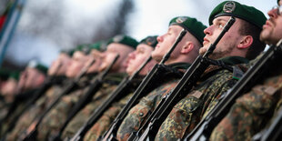
<svg viewBox="0 0 282 141">
<path fill-rule="evenodd" d="M 26 5 L 30 3 L 43 4 L 48 0 L 26 0 Z M 187 15 L 196 17 L 199 21 L 207 25 L 207 18 L 213 8 L 223 0 L 133 0 L 135 10 L 130 14 L 127 28 L 128 35 L 141 40 L 147 35 L 162 35 L 167 30 L 167 25 L 175 16 Z M 268 18 L 267 11 L 274 5 L 276 0 L 237 0 L 241 4 L 252 5 L 261 10 Z M 65 23 L 75 27 L 77 22 L 74 17 L 82 19 L 106 16 L 120 0 L 66 0 Z M 54 4 L 55 6 L 55 4 Z M 25 8 L 28 6 L 25 6 Z M 19 25 L 25 24 L 25 19 L 21 19 Z M 89 25 L 89 24 L 88 24 Z M 95 24 L 94 24 L 95 25 Z M 87 28 L 80 27 L 82 32 L 87 32 Z M 87 33 L 86 33 L 87 34 Z M 17 36 L 16 36 L 17 35 Z M 71 39 L 71 38 L 70 38 Z M 16 40 L 16 41 L 15 41 Z M 67 42 L 67 41 L 65 41 Z M 45 43 L 45 44 L 42 44 Z M 26 49 L 25 46 L 33 46 L 35 50 Z M 14 42 L 8 48 L 7 55 L 15 62 L 26 62 L 31 58 L 50 65 L 59 53 L 59 46 L 46 38 L 31 38 L 22 33 L 15 33 Z"/>
</svg>

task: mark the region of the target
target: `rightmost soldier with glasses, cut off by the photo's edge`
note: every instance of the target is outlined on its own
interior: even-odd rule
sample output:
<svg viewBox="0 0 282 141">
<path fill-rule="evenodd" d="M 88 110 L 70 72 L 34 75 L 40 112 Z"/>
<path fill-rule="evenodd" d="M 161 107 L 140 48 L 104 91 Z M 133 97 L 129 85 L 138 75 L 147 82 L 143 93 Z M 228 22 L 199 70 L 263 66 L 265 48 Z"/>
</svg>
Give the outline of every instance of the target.
<svg viewBox="0 0 282 141">
<path fill-rule="evenodd" d="M 261 41 L 268 45 L 277 45 L 282 38 L 282 1 L 277 0 L 278 6 L 268 11 L 269 19 L 260 33 Z M 260 85 L 254 86 L 250 92 L 237 98 L 227 116 L 214 129 L 210 140 L 251 140 L 260 131 L 273 111 L 282 102 L 281 98 L 281 67 L 271 66 L 268 76 Z"/>
</svg>

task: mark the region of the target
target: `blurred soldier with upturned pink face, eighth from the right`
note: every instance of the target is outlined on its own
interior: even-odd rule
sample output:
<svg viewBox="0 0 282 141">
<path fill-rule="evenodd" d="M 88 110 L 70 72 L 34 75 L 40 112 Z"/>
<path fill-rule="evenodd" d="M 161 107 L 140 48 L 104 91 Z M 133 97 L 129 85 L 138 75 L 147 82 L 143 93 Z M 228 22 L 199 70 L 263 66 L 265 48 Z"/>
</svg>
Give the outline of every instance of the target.
<svg viewBox="0 0 282 141">
<path fill-rule="evenodd" d="M 49 74 L 49 76 L 55 76 L 54 84 L 45 91 L 45 95 L 39 97 L 35 102 L 35 106 L 31 106 L 19 117 L 18 122 L 12 131 L 6 131 L 11 132 L 7 135 L 7 140 L 15 140 L 32 123 L 35 116 L 40 115 L 44 111 L 47 104 L 54 99 L 53 97 L 60 93 L 61 87 L 65 81 L 65 71 L 67 66 L 70 65 L 70 61 L 70 56 L 65 52 L 62 52 L 53 62 L 50 69 L 48 69 L 47 74 Z"/>
</svg>

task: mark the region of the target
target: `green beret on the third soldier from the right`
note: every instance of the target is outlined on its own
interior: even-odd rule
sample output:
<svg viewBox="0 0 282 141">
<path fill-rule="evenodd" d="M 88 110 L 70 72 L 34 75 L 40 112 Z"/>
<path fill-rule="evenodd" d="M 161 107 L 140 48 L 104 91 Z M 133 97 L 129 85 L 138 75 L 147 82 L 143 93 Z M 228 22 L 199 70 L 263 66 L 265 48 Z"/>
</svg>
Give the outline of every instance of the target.
<svg viewBox="0 0 282 141">
<path fill-rule="evenodd" d="M 203 44 L 205 37 L 204 30 L 206 29 L 206 25 L 203 25 L 201 22 L 197 21 L 196 18 L 177 16 L 169 22 L 169 25 L 182 26 L 190 34 L 194 35 L 201 44 Z"/>
</svg>

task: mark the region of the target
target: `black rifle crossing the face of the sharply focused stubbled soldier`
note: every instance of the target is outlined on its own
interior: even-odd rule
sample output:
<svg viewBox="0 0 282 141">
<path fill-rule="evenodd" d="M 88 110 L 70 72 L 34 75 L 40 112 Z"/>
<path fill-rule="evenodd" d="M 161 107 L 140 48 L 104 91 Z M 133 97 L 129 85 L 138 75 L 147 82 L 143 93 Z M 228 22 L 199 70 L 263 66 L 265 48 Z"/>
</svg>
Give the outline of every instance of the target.
<svg viewBox="0 0 282 141">
<path fill-rule="evenodd" d="M 208 55 L 213 53 L 219 40 L 226 34 L 234 22 L 235 18 L 231 17 L 223 31 L 218 35 L 215 43 L 209 46 L 205 55 L 197 56 L 196 60 L 187 69 L 185 75 L 177 83 L 176 87 L 166 96 L 162 97 L 156 109 L 152 112 L 151 116 L 147 118 L 146 123 L 137 132 L 132 133 L 127 140 L 154 140 L 158 128 L 165 121 L 166 116 L 169 115 L 173 107 L 188 94 L 193 86 L 195 86 L 196 81 L 202 76 L 208 65 L 210 65 Z"/>
</svg>

